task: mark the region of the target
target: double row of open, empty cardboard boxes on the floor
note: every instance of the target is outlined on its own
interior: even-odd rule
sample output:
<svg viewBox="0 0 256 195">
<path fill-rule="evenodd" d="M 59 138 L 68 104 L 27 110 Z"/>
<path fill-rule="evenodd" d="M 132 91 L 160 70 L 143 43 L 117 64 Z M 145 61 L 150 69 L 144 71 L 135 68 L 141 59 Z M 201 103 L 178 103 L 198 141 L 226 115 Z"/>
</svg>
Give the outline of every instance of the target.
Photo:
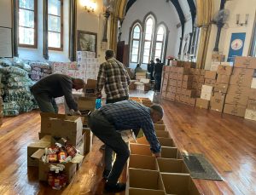
<svg viewBox="0 0 256 195">
<path fill-rule="evenodd" d="M 137 101 L 143 103 L 145 99 Z M 160 121 L 154 129 L 162 146 L 161 158 L 152 156 L 144 136 L 131 141 L 125 194 L 200 194 L 166 125 Z"/>
</svg>

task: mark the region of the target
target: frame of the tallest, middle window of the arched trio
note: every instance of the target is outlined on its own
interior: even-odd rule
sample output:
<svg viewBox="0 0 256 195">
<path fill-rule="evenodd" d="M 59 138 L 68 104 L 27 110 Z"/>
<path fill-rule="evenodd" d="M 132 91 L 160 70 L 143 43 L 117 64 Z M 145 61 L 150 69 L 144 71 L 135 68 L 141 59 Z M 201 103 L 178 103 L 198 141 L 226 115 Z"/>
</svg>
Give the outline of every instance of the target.
<svg viewBox="0 0 256 195">
<path fill-rule="evenodd" d="M 147 21 L 149 19 L 153 20 L 153 29 L 152 29 L 152 34 L 151 34 L 151 40 L 146 39 L 146 31 L 147 31 Z M 143 32 L 143 47 L 142 47 L 142 58 L 141 58 L 141 63 L 142 64 L 148 64 L 150 62 L 150 60 L 152 59 L 152 56 L 154 55 L 152 53 L 153 51 L 153 47 L 154 47 L 154 34 L 155 34 L 155 18 L 152 14 L 148 14 L 148 16 L 146 17 L 146 19 L 143 22 L 143 26 L 144 26 L 144 32 Z M 143 55 L 144 55 L 144 46 L 146 42 L 150 42 L 150 48 L 149 48 L 149 56 L 148 56 L 148 62 L 143 62 Z"/>
</svg>

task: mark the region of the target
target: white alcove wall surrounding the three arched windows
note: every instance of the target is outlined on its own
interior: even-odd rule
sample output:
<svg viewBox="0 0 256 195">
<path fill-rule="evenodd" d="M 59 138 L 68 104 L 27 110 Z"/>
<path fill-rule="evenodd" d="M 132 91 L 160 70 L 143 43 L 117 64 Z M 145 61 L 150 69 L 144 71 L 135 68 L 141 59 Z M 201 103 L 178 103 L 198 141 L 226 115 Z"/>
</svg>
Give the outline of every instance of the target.
<svg viewBox="0 0 256 195">
<path fill-rule="evenodd" d="M 177 11 L 172 3 L 166 3 L 166 1 L 161 0 L 156 2 L 155 0 L 147 0 L 147 3 L 145 3 L 145 0 L 137 0 L 125 16 L 122 26 L 121 41 L 125 41 L 125 44 L 129 44 L 129 34 L 132 23 L 135 20 L 143 22 L 145 15 L 149 12 L 153 12 L 156 16 L 156 24 L 164 22 L 170 31 L 168 35 L 166 55 L 177 56 L 177 44 L 179 45 L 180 36 L 178 36 L 179 30 L 176 25 L 179 22 L 179 19 Z"/>
</svg>

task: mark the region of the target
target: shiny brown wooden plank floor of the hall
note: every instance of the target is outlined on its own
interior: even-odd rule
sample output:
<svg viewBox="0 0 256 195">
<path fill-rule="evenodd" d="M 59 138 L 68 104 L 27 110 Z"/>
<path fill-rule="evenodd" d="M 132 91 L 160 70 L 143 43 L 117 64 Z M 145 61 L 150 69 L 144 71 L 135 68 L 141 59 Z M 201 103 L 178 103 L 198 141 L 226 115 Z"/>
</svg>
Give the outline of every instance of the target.
<svg viewBox="0 0 256 195">
<path fill-rule="evenodd" d="M 161 104 L 165 109 L 164 122 L 179 150 L 203 153 L 224 180 L 195 180 L 201 194 L 256 194 L 256 122 L 230 115 L 222 118 L 218 112 L 177 102 L 162 100 Z M 102 194 L 100 141 L 96 140 L 73 182 L 64 190 L 55 191 L 38 182 L 37 168 L 26 166 L 26 146 L 38 139 L 39 112 L 3 121 L 0 128 L 1 195 Z M 125 174 L 121 181 L 125 181 Z"/>
</svg>

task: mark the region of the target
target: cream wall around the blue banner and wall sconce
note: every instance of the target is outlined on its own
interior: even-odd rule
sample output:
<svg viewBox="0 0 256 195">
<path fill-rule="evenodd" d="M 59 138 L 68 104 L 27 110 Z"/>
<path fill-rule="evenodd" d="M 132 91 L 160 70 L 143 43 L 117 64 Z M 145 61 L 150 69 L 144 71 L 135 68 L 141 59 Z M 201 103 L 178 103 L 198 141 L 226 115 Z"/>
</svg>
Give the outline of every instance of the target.
<svg viewBox="0 0 256 195">
<path fill-rule="evenodd" d="M 215 12 L 219 9 L 219 0 L 214 1 Z M 230 10 L 230 19 L 227 22 L 227 25 L 222 28 L 220 41 L 218 45 L 219 53 L 225 55 L 225 60 L 228 58 L 229 49 L 230 49 L 230 38 L 232 33 L 236 32 L 246 32 L 246 39 L 244 43 L 242 55 L 247 56 L 249 54 L 249 48 L 252 40 L 253 33 L 253 22 L 255 17 L 256 10 L 256 1 L 255 0 L 232 0 L 225 3 L 225 9 Z M 244 22 L 245 14 L 249 14 L 249 20 L 247 26 L 236 26 L 236 14 L 241 14 L 240 20 Z M 210 41 L 207 50 L 207 60 L 205 67 L 209 69 L 211 66 L 212 60 L 212 51 L 214 48 L 215 40 L 217 34 L 217 26 L 212 25 L 212 31 L 210 36 Z"/>
</svg>

